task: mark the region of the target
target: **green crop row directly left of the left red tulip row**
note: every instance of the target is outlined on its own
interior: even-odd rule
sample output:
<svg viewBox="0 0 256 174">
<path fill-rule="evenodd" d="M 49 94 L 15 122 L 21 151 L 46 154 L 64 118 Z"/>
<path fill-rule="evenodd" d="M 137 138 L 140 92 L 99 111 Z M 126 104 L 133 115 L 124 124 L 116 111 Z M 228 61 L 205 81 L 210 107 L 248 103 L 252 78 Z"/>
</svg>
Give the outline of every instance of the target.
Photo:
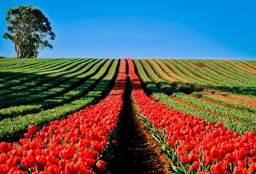
<svg viewBox="0 0 256 174">
<path fill-rule="evenodd" d="M 50 122 L 61 118 L 69 113 L 74 113 L 81 108 L 89 105 L 95 99 L 99 98 L 104 91 L 109 89 L 111 82 L 115 80 L 116 68 L 118 67 L 118 60 L 115 60 L 109 69 L 108 75 L 100 81 L 100 83 L 92 91 L 83 96 L 79 96 L 79 99 L 70 103 L 63 104 L 61 106 L 52 108 L 50 110 L 43 110 L 40 113 L 28 114 L 23 116 L 17 116 L 14 118 L 6 118 L 0 122 L 0 138 L 13 136 L 20 131 L 24 131 L 29 124 L 40 125 L 45 122 Z"/>
</svg>

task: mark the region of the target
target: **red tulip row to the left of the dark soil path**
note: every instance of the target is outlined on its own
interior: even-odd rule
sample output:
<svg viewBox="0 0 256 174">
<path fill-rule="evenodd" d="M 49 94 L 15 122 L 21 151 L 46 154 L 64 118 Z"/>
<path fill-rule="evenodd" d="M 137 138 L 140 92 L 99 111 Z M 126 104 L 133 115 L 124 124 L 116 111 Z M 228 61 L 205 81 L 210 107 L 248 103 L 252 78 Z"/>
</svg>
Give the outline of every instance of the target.
<svg viewBox="0 0 256 174">
<path fill-rule="evenodd" d="M 37 132 L 31 125 L 19 143 L 2 142 L 0 173 L 104 172 L 106 164 L 100 156 L 122 110 L 126 76 L 120 73 L 110 94 L 97 105 L 52 121 Z"/>
</svg>

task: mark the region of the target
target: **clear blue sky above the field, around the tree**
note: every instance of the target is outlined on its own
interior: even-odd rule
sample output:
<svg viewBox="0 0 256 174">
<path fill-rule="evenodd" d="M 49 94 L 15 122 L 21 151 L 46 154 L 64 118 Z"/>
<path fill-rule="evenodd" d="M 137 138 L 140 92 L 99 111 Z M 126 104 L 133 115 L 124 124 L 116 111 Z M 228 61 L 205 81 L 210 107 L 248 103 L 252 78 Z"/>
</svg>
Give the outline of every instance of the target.
<svg viewBox="0 0 256 174">
<path fill-rule="evenodd" d="M 0 0 L 0 55 L 9 8 L 30 4 L 56 40 L 40 57 L 256 58 L 256 1 Z"/>
</svg>

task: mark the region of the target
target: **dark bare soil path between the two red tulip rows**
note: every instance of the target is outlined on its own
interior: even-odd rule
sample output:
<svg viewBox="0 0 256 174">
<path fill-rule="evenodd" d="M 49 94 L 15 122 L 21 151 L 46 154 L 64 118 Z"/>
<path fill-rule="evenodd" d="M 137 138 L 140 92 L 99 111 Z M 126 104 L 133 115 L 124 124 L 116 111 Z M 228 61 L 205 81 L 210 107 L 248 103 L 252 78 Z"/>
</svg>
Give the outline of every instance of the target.
<svg viewBox="0 0 256 174">
<path fill-rule="evenodd" d="M 124 106 L 118 123 L 116 141 L 112 148 L 113 157 L 108 163 L 109 173 L 170 173 L 170 162 L 161 154 L 159 143 L 154 140 L 134 112 L 129 78 L 125 87 Z"/>
</svg>

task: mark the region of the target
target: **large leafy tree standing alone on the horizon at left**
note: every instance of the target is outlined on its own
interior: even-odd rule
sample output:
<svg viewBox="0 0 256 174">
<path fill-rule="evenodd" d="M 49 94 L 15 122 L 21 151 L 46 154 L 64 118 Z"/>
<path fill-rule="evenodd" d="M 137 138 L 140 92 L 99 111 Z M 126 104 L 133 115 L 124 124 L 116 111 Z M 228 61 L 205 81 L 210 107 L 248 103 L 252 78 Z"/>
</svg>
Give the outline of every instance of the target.
<svg viewBox="0 0 256 174">
<path fill-rule="evenodd" d="M 29 5 L 11 8 L 5 20 L 8 32 L 3 37 L 14 43 L 17 58 L 37 57 L 45 48 L 52 49 L 48 40 L 54 40 L 55 34 L 51 31 L 50 22 L 38 8 Z"/>
</svg>

